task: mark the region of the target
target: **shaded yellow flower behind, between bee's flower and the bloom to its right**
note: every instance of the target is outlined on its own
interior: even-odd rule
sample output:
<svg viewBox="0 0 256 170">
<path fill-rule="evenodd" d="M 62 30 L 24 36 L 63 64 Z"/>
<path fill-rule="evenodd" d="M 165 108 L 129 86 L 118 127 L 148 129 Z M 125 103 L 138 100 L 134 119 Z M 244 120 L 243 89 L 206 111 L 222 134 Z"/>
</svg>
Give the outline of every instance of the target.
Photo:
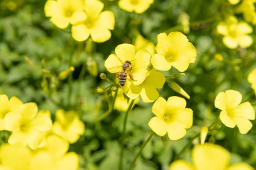
<svg viewBox="0 0 256 170">
<path fill-rule="evenodd" d="M 134 46 L 136 48 L 136 51 L 139 50 L 146 50 L 148 51 L 151 55 L 154 55 L 156 53 L 156 47 L 155 44 L 153 42 L 148 41 L 147 39 L 145 39 L 143 36 L 141 36 L 140 34 L 138 34 L 135 38 L 134 41 Z"/>
</svg>

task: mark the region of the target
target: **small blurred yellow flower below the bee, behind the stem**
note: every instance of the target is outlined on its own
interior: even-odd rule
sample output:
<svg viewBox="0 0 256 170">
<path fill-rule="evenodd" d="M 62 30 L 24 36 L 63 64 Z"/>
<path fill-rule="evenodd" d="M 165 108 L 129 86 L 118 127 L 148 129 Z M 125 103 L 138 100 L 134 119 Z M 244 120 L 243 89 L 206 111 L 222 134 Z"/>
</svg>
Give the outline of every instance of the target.
<svg viewBox="0 0 256 170">
<path fill-rule="evenodd" d="M 114 95 L 115 92 L 112 92 L 112 95 Z M 121 88 L 118 88 L 118 94 L 117 98 L 114 104 L 114 109 L 120 110 L 120 111 L 127 111 L 130 103 L 132 102 L 132 99 L 128 99 L 127 97 L 124 96 L 124 91 Z M 135 104 L 139 102 L 139 98 L 135 99 L 132 108 L 134 107 Z"/>
</svg>

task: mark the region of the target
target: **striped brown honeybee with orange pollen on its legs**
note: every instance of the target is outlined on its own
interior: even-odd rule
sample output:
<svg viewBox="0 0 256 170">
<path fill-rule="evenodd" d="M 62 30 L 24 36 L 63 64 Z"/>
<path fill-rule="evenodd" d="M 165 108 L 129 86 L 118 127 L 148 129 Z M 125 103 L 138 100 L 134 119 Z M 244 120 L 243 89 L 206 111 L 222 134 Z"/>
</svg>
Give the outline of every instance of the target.
<svg viewBox="0 0 256 170">
<path fill-rule="evenodd" d="M 121 86 L 124 86 L 125 82 L 126 82 L 126 79 L 127 79 L 127 74 L 129 75 L 131 80 L 136 81 L 136 80 L 133 79 L 133 75 L 131 73 L 131 71 L 133 69 L 131 65 L 132 65 L 132 63 L 130 61 L 125 61 L 122 66 L 109 68 L 108 70 L 113 70 L 113 69 L 117 69 L 117 68 L 121 69 L 116 74 L 116 77 L 119 79 L 119 84 Z"/>
</svg>

